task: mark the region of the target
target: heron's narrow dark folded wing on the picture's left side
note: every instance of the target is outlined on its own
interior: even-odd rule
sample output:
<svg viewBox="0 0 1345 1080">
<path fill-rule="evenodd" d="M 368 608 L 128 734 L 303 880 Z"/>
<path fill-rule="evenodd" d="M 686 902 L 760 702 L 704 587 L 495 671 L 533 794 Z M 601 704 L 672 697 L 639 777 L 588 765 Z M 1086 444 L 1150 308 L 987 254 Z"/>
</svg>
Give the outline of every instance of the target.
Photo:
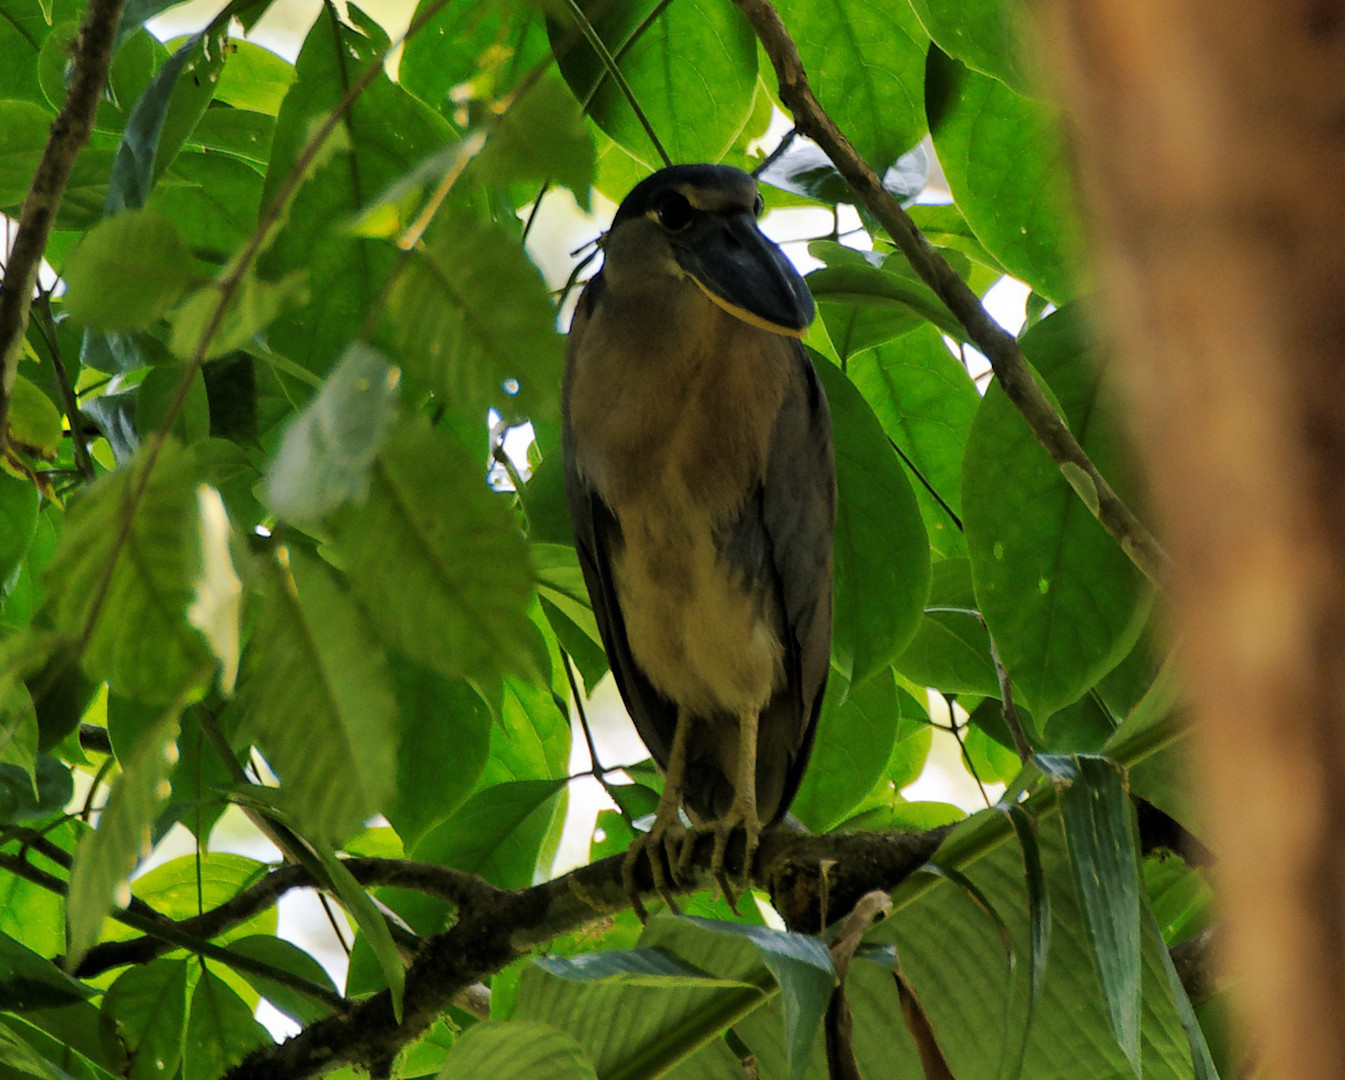
<svg viewBox="0 0 1345 1080">
<path fill-rule="evenodd" d="M 601 274 L 593 277 L 580 296 L 574 323 L 570 325 L 569 354 L 573 363 L 588 325 L 596 297 L 601 295 Z M 566 393 L 569 382 L 566 381 Z M 569 409 L 564 410 L 569 416 Z M 672 734 L 677 729 L 677 706 L 644 677 L 639 664 L 631 656 L 629 639 L 625 633 L 625 619 L 621 615 L 620 597 L 612 580 L 612 554 L 621 545 L 621 525 L 612 508 L 603 500 L 574 467 L 574 433 L 569 424 L 562 425 L 565 460 L 565 498 L 570 510 L 570 525 L 574 530 L 574 549 L 584 572 L 589 600 L 593 604 L 593 617 L 597 620 L 599 635 L 607 650 L 607 662 L 616 679 L 621 701 L 635 721 L 644 745 L 660 767 L 667 765 L 672 749 Z"/>
</svg>

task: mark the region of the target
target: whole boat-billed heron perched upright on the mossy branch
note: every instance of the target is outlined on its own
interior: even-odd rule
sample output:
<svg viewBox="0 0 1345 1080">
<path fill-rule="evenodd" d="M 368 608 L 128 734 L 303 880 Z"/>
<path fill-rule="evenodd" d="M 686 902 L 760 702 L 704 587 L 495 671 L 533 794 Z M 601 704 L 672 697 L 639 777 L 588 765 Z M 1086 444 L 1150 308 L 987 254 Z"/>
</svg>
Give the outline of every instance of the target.
<svg viewBox="0 0 1345 1080">
<path fill-rule="evenodd" d="M 831 651 L 835 467 L 799 336 L 807 285 L 757 227 L 756 182 L 674 165 L 636 184 L 570 327 L 565 479 L 584 580 L 664 773 L 642 853 L 670 901 L 697 835 L 749 878 L 812 745 Z M 695 822 L 686 834 L 683 806 Z"/>
</svg>

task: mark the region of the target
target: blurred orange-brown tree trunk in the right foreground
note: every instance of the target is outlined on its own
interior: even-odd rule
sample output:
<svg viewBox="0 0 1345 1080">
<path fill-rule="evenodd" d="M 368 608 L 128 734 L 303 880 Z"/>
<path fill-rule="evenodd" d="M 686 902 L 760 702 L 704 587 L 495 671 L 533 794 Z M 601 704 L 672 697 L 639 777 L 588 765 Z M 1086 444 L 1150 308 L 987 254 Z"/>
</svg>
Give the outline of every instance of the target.
<svg viewBox="0 0 1345 1080">
<path fill-rule="evenodd" d="M 1345 4 L 1048 4 L 1247 1034 L 1345 1076 Z"/>
</svg>

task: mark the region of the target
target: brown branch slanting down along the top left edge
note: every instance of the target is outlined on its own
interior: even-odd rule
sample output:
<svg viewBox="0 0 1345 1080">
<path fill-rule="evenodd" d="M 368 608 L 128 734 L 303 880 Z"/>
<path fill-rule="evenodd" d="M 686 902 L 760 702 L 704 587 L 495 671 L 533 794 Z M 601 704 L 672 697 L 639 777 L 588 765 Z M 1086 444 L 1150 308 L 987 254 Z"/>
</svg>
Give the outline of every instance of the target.
<svg viewBox="0 0 1345 1080">
<path fill-rule="evenodd" d="M 70 171 L 93 132 L 124 3 L 90 0 L 75 43 L 70 93 L 51 125 L 47 148 L 23 202 L 19 231 L 5 266 L 4 288 L 0 289 L 0 455 L 9 442 L 9 397 L 19 374 L 19 352 L 28 327 L 32 292 L 38 285 L 38 268 L 65 198 Z M 71 417 L 70 422 L 78 424 L 77 417 Z"/>
</svg>

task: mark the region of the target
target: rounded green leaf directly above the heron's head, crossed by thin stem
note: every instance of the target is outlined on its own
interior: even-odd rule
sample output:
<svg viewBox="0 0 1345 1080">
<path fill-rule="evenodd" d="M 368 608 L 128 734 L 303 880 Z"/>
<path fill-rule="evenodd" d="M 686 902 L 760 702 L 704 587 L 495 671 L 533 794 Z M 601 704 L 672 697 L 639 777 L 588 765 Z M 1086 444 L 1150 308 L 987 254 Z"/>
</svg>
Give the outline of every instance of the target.
<svg viewBox="0 0 1345 1080">
<path fill-rule="evenodd" d="M 611 5 L 584 0 L 547 23 L 574 97 L 607 134 L 647 165 L 663 164 L 663 159 L 603 56 L 577 28 L 576 7 L 592 20 L 668 159 L 721 160 L 752 116 L 756 93 L 756 39 L 742 15 L 709 0 L 670 4 L 656 16 L 655 0 Z M 570 43 L 570 35 L 578 39 Z M 564 51 L 562 42 L 569 44 Z M 703 78 L 702 71 L 713 71 L 714 78 Z"/>
</svg>

